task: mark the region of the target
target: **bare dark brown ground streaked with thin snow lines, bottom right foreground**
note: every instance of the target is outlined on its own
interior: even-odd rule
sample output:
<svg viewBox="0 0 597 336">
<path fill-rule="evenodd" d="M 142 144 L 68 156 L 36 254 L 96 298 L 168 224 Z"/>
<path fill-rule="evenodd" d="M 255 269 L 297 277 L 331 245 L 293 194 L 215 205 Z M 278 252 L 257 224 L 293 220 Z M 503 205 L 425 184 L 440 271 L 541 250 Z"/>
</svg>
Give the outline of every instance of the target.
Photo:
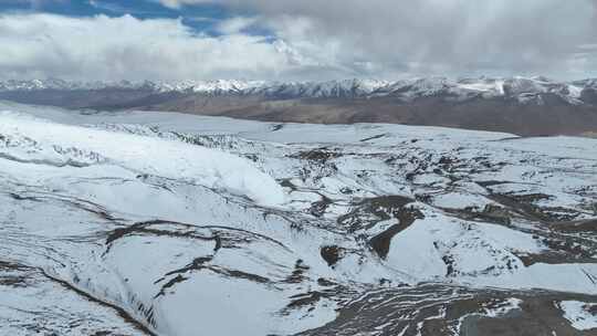
<svg viewBox="0 0 597 336">
<path fill-rule="evenodd" d="M 557 304 L 565 300 L 597 302 L 583 294 L 421 284 L 363 295 L 341 308 L 335 321 L 300 335 L 595 335 L 564 318 Z"/>
</svg>

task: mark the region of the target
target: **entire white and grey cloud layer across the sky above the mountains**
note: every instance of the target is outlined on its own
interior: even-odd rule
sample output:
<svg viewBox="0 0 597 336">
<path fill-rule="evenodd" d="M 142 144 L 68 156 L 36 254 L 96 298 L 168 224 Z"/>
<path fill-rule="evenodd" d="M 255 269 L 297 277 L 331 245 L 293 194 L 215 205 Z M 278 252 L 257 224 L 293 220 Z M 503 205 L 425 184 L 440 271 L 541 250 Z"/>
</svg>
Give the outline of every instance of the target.
<svg viewBox="0 0 597 336">
<path fill-rule="evenodd" d="M 230 15 L 207 33 L 182 19 L 6 12 L 2 77 L 597 76 L 591 0 L 159 2 L 181 17 L 206 3 Z"/>
</svg>

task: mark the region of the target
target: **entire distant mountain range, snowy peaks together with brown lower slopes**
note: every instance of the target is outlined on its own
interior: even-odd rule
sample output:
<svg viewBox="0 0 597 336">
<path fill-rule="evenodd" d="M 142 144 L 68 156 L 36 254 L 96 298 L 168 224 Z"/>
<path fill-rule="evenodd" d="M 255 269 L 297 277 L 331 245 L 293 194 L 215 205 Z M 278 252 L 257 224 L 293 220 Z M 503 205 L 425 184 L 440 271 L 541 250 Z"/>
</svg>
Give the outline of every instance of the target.
<svg viewBox="0 0 597 336">
<path fill-rule="evenodd" d="M 597 80 L 422 77 L 326 82 L 0 82 L 0 99 L 94 111 L 169 111 L 312 124 L 389 123 L 597 134 Z"/>
</svg>

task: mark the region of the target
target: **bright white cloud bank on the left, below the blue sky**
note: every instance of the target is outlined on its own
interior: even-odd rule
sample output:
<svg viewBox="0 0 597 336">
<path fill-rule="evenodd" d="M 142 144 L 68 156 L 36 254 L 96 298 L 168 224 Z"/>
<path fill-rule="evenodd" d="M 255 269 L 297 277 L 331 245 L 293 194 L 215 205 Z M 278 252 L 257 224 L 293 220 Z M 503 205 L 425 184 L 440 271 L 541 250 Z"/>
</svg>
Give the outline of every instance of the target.
<svg viewBox="0 0 597 336">
<path fill-rule="evenodd" d="M 280 42 L 239 33 L 247 22 L 222 22 L 227 34 L 213 38 L 196 34 L 181 20 L 0 15 L 0 73 L 81 80 L 273 78 L 313 65 L 281 50 Z"/>
</svg>

